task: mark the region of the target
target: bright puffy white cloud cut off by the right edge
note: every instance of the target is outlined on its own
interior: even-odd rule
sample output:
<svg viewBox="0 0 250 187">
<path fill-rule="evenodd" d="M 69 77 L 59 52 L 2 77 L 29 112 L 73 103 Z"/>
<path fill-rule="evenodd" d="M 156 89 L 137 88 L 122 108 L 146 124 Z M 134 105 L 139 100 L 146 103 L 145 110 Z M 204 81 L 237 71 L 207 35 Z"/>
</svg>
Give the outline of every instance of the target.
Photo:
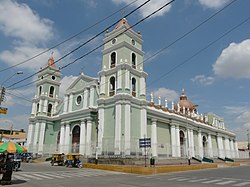
<svg viewBox="0 0 250 187">
<path fill-rule="evenodd" d="M 231 43 L 213 65 L 215 75 L 228 78 L 250 78 L 250 39 Z"/>
</svg>

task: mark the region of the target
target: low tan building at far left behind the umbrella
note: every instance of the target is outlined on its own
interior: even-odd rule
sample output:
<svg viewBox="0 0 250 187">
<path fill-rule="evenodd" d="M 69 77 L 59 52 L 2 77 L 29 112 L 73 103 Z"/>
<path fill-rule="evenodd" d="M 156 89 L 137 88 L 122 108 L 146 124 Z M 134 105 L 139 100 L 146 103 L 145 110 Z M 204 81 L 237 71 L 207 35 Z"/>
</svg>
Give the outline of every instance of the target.
<svg viewBox="0 0 250 187">
<path fill-rule="evenodd" d="M 26 132 L 21 130 L 0 129 L 0 142 L 16 142 L 20 145 L 26 143 Z"/>
</svg>

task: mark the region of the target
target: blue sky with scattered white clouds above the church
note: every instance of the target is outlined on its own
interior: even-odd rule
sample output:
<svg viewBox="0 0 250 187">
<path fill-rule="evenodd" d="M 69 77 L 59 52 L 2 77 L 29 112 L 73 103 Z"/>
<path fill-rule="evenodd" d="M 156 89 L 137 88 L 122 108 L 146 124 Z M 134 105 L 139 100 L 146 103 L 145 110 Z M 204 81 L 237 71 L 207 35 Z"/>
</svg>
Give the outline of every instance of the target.
<svg viewBox="0 0 250 187">
<path fill-rule="evenodd" d="M 168 1 L 151 0 L 126 19 L 132 26 Z M 8 108 L 8 114 L 0 115 L 0 128 L 27 130 L 36 90 L 32 82 L 37 76 L 18 81 L 45 67 L 51 56 L 57 60 L 105 31 L 144 2 L 0 0 L 0 84 L 7 88 L 2 107 Z M 176 102 L 185 89 L 199 113 L 223 117 L 238 141 L 246 141 L 250 129 L 249 7 L 249 0 L 175 0 L 133 27 L 143 37 L 148 100 L 153 93 L 155 102 L 158 96 Z M 57 66 L 73 62 L 100 46 L 103 39 L 104 34 L 98 35 Z M 60 97 L 80 73 L 97 78 L 101 63 L 102 47 L 63 68 Z"/>
</svg>

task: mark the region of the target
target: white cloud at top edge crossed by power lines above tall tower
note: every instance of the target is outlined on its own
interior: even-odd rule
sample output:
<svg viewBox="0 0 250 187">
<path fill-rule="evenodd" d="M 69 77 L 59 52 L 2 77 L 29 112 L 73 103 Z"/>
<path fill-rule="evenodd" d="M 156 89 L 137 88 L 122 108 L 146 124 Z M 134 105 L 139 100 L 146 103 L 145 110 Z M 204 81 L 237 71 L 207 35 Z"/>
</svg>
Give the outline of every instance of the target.
<svg viewBox="0 0 250 187">
<path fill-rule="evenodd" d="M 132 3 L 134 0 L 112 0 L 114 3 L 116 4 L 121 4 L 121 3 Z M 170 0 L 169 0 L 170 1 Z M 133 3 L 134 6 L 138 7 L 141 4 L 143 4 L 145 1 L 144 0 L 138 0 L 135 3 Z M 147 3 L 146 5 L 144 5 L 143 7 L 141 7 L 139 9 L 140 15 L 142 17 L 146 17 L 149 14 L 153 13 L 155 10 L 159 9 L 161 6 L 165 5 L 168 1 L 166 0 L 155 0 L 155 1 L 150 1 L 149 3 Z M 165 8 L 163 8 L 161 11 L 157 12 L 154 16 L 152 17 L 156 17 L 156 16 L 162 16 L 164 15 L 166 12 L 168 12 L 171 8 L 171 5 L 166 6 Z"/>
</svg>

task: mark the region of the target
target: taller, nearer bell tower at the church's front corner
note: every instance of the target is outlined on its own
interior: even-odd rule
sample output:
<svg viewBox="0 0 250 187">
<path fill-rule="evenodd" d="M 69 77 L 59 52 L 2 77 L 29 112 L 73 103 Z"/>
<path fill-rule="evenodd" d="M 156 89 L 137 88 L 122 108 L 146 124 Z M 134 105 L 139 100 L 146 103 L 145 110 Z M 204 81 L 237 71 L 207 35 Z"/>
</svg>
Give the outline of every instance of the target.
<svg viewBox="0 0 250 187">
<path fill-rule="evenodd" d="M 100 78 L 100 141 L 113 137 L 114 154 L 130 155 L 132 140 L 146 135 L 146 76 L 142 37 L 123 18 L 104 38 Z M 113 134 L 111 133 L 113 132 Z"/>
</svg>

